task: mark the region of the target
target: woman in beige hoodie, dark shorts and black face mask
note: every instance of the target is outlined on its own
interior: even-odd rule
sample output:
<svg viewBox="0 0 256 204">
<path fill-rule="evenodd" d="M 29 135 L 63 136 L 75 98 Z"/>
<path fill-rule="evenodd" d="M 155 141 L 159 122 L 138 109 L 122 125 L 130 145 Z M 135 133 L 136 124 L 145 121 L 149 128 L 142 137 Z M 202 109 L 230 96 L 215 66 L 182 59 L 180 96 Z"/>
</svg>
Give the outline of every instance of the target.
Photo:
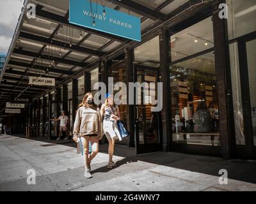
<svg viewBox="0 0 256 204">
<path fill-rule="evenodd" d="M 102 138 L 102 117 L 100 109 L 93 103 L 93 96 L 91 93 L 85 94 L 82 103 L 76 113 L 76 120 L 74 123 L 74 138 L 83 137 L 84 148 L 84 177 L 86 179 L 92 178 L 91 161 L 99 152 L 99 140 Z M 89 141 L 92 144 L 92 154 L 88 155 Z"/>
</svg>

